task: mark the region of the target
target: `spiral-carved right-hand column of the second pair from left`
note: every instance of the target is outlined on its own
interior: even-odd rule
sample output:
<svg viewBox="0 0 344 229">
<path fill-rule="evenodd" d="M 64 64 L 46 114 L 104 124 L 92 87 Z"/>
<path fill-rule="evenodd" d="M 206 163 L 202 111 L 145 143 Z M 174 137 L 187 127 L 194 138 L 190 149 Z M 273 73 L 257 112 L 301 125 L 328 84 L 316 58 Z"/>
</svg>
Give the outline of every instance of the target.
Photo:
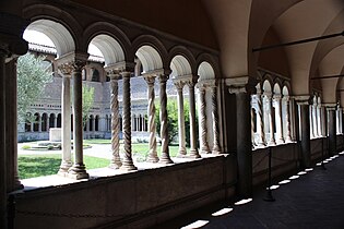
<svg viewBox="0 0 344 229">
<path fill-rule="evenodd" d="M 124 140 L 124 155 L 122 166 L 123 170 L 137 170 L 138 168 L 132 161 L 131 152 L 131 98 L 130 98 L 130 77 L 131 72 L 121 72 L 123 79 L 123 140 Z"/>
</svg>

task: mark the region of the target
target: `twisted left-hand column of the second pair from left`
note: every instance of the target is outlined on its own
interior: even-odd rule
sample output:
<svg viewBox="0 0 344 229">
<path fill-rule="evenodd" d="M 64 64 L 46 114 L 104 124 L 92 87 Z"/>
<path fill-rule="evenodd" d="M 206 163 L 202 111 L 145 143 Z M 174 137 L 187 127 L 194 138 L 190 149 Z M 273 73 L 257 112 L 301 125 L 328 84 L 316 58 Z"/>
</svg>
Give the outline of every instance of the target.
<svg viewBox="0 0 344 229">
<path fill-rule="evenodd" d="M 112 158 L 109 167 L 111 169 L 119 169 L 122 166 L 119 156 L 119 101 L 118 101 L 118 80 L 120 74 L 115 70 L 109 70 L 110 92 L 111 92 L 111 150 Z"/>
</svg>

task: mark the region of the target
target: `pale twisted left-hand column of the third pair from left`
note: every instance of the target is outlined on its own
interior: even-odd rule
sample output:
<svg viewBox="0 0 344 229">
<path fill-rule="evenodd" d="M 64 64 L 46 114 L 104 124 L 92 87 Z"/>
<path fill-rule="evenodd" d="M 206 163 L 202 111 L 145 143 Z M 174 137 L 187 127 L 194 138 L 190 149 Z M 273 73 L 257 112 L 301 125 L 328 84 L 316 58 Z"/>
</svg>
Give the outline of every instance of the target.
<svg viewBox="0 0 344 229">
<path fill-rule="evenodd" d="M 149 162 L 157 162 L 157 150 L 156 150 L 156 124 L 155 124 L 155 92 L 154 92 L 154 84 L 155 84 L 155 75 L 145 75 L 145 82 L 147 83 L 147 97 L 149 97 L 149 131 L 150 131 L 150 153 L 147 157 Z"/>
</svg>

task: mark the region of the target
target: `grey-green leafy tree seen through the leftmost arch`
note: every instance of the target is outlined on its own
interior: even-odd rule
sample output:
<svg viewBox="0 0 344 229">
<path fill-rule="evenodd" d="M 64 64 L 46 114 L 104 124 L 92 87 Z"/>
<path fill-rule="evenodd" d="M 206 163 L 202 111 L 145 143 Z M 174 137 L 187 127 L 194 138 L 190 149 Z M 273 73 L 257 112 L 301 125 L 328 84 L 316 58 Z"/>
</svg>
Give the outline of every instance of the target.
<svg viewBox="0 0 344 229">
<path fill-rule="evenodd" d="M 43 96 L 45 86 L 52 81 L 50 63 L 44 56 L 26 53 L 17 59 L 17 119 L 34 121 L 29 107 Z"/>
</svg>

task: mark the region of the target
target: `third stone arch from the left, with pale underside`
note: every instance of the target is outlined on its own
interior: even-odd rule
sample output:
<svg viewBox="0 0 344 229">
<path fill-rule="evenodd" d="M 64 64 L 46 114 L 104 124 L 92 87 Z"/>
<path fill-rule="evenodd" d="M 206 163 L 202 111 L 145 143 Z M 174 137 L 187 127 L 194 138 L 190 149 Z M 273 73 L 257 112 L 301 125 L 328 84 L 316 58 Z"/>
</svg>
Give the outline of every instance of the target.
<svg viewBox="0 0 344 229">
<path fill-rule="evenodd" d="M 143 67 L 143 72 L 169 69 L 165 46 L 154 36 L 142 35 L 132 43 L 132 52 Z"/>
</svg>

